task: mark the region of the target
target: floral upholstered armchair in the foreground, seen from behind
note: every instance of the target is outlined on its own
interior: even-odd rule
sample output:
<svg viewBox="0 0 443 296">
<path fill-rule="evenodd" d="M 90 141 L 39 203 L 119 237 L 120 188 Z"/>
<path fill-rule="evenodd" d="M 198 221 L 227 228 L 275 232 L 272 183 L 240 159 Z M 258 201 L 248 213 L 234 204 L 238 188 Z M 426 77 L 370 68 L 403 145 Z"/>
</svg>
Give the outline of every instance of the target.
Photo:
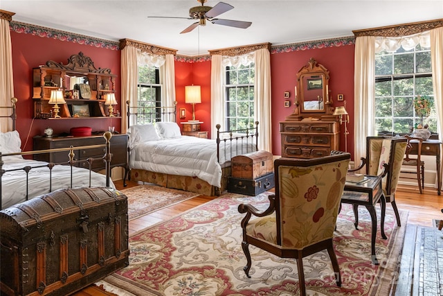
<svg viewBox="0 0 443 296">
<path fill-rule="evenodd" d="M 242 220 L 242 249 L 248 277 L 251 244 L 282 258 L 297 259 L 300 295 L 306 295 L 302 258 L 327 250 L 336 284 L 341 286 L 332 237 L 349 162 L 349 153 L 275 160 L 275 195 L 270 195 L 268 209 L 258 211 L 251 204 L 238 207 L 240 213 L 246 213 Z"/>
</svg>

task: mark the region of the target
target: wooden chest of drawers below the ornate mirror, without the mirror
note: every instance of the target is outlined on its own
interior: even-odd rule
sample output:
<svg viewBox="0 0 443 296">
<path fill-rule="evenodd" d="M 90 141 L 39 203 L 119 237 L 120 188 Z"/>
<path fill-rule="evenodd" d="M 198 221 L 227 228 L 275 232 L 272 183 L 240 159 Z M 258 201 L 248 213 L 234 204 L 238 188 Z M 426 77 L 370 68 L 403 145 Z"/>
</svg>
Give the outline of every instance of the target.
<svg viewBox="0 0 443 296">
<path fill-rule="evenodd" d="M 282 157 L 314 158 L 338 150 L 340 126 L 336 121 L 280 122 Z"/>
</svg>

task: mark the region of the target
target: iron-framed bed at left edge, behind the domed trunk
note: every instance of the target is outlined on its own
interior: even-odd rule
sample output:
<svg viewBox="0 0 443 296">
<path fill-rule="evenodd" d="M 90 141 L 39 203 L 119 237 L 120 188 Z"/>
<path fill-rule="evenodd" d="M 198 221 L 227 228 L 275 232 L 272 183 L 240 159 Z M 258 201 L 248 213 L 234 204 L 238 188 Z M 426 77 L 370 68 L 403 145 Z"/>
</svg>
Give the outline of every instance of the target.
<svg viewBox="0 0 443 296">
<path fill-rule="evenodd" d="M 6 108 L 6 107 L 2 107 Z M 111 150 L 110 139 L 112 134 L 104 134 L 107 143 L 104 145 L 57 148 L 52 150 L 21 151 L 19 132 L 15 130 L 15 102 L 13 102 L 12 131 L 0 132 L 0 205 L 1 209 L 24 202 L 35 196 L 49 193 L 57 189 L 75 187 L 106 186 L 115 188 L 110 178 Z M 77 167 L 82 162 L 75 161 L 75 149 L 105 148 L 106 153 L 102 159 L 88 159 L 87 167 L 91 168 L 94 161 L 106 162 L 106 174 L 100 174 L 88 168 Z M 64 164 L 54 164 L 28 159 L 37 153 L 51 153 L 66 151 L 69 161 Z"/>
</svg>

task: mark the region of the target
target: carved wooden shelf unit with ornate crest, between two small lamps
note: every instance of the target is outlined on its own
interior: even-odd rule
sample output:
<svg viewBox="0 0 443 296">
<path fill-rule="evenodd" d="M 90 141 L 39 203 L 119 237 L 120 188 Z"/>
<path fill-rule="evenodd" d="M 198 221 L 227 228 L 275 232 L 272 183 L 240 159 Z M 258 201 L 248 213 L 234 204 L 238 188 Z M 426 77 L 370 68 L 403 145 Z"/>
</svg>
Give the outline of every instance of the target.
<svg viewBox="0 0 443 296">
<path fill-rule="evenodd" d="M 89 111 L 88 117 L 100 118 L 105 117 L 105 94 L 115 92 L 115 78 L 111 74 L 109 68 L 96 68 L 91 58 L 83 55 L 71 55 L 68 64 L 61 64 L 52 60 L 46 62 L 45 65 L 33 69 L 33 100 L 34 100 L 34 117 L 36 119 L 48 119 L 53 108 L 50 105 L 52 90 L 62 90 L 66 104 L 59 105 L 60 116 L 62 119 L 73 119 L 73 106 L 84 107 Z M 79 80 L 82 78 L 91 90 L 89 99 L 70 98 L 73 94 L 71 80 Z M 71 94 L 69 93 L 71 91 Z"/>
</svg>

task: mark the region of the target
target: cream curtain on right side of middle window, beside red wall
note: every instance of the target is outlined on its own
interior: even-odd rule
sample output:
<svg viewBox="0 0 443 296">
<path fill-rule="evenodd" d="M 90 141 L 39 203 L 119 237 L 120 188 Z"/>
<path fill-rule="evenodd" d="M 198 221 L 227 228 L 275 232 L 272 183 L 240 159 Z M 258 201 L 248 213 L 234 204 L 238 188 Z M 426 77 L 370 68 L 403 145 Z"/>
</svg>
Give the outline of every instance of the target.
<svg viewBox="0 0 443 296">
<path fill-rule="evenodd" d="M 271 126 L 271 53 L 268 49 L 255 52 L 254 114 L 258 121 L 258 147 L 272 152 Z"/>
</svg>

